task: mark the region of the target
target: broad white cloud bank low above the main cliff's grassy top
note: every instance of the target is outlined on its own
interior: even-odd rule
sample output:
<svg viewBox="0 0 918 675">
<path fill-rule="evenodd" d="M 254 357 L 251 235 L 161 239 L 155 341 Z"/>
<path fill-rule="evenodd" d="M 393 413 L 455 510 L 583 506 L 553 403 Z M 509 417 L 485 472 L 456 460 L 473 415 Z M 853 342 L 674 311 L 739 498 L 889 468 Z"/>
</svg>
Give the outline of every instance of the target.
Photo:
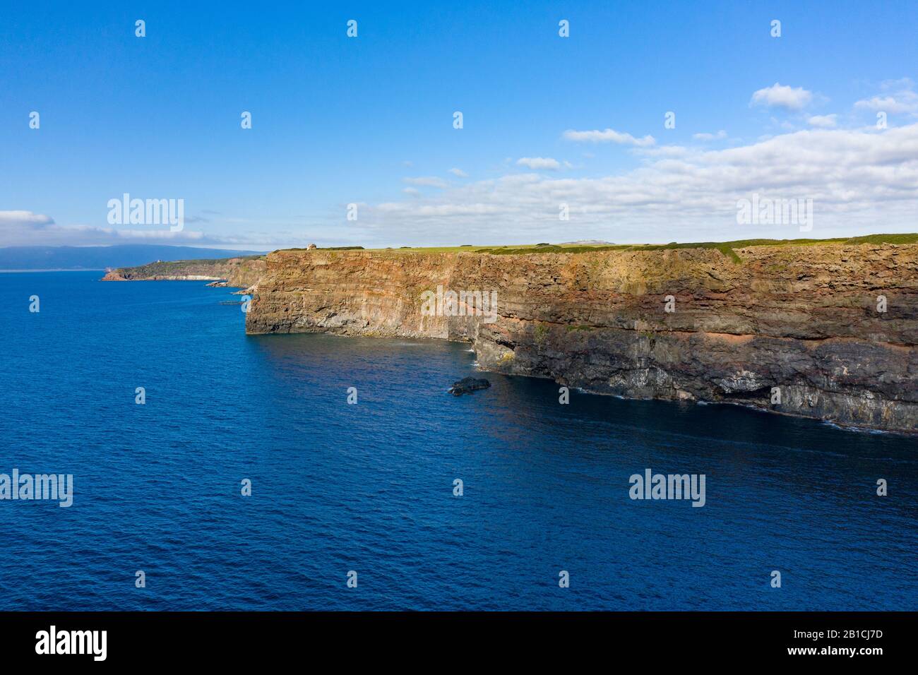
<svg viewBox="0 0 918 675">
<path fill-rule="evenodd" d="M 666 152 L 660 152 L 664 151 Z M 723 150 L 641 149 L 630 171 L 588 178 L 506 174 L 431 197 L 386 202 L 361 222 L 387 239 L 429 243 L 543 241 L 563 223 L 572 239 L 672 242 L 753 236 L 841 236 L 914 231 L 918 212 L 918 123 L 879 131 L 802 129 Z M 739 226 L 738 199 L 812 198 L 815 226 Z M 365 222 L 364 222 L 365 220 Z M 436 241 L 431 241 L 436 240 Z"/>
</svg>

